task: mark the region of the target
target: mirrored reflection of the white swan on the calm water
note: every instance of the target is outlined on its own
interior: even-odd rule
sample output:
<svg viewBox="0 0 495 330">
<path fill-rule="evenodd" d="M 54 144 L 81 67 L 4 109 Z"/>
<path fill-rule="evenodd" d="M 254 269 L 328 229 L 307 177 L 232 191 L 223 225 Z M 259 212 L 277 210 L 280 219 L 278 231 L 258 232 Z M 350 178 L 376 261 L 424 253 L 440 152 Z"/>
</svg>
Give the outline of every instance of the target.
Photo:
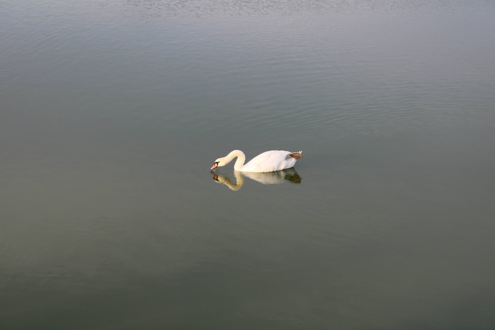
<svg viewBox="0 0 495 330">
<path fill-rule="evenodd" d="M 276 172 L 238 172 L 234 171 L 234 176 L 236 178 L 236 183 L 234 183 L 228 176 L 220 173 L 210 172 L 213 180 L 215 182 L 229 187 L 229 189 L 237 191 L 241 189 L 244 185 L 244 177 L 262 183 L 264 185 L 274 185 L 281 184 L 285 180 L 293 183 L 300 184 L 302 178 L 297 174 L 294 168 L 289 168 L 287 170 L 276 171 Z"/>
</svg>

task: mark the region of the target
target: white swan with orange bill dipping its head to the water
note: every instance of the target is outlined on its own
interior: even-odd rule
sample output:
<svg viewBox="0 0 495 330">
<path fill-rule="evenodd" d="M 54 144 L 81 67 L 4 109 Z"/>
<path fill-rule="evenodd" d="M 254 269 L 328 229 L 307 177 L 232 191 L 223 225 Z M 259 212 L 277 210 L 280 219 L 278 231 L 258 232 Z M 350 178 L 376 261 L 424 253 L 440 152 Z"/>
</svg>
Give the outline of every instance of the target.
<svg viewBox="0 0 495 330">
<path fill-rule="evenodd" d="M 233 150 L 227 156 L 218 158 L 210 170 L 225 166 L 237 157 L 234 170 L 240 172 L 274 172 L 294 167 L 297 159 L 302 157 L 302 151 L 290 152 L 285 150 L 270 150 L 260 153 L 244 164 L 246 155 L 241 150 Z"/>
</svg>

